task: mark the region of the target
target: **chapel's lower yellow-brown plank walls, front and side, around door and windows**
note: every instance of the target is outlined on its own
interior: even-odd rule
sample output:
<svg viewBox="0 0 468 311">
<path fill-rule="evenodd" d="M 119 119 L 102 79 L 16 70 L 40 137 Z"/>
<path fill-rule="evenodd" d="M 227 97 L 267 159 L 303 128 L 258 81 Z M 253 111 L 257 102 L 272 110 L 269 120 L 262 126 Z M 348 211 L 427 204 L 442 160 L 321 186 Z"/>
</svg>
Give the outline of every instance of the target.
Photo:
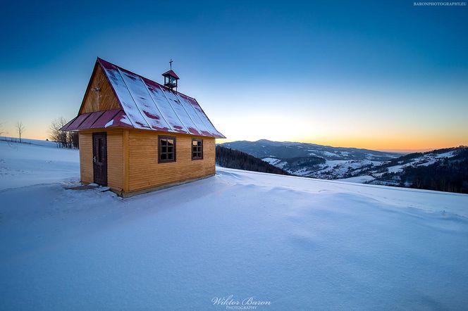
<svg viewBox="0 0 468 311">
<path fill-rule="evenodd" d="M 212 137 L 133 129 L 81 130 L 81 182 L 94 182 L 92 133 L 107 132 L 107 185 L 119 194 L 176 184 L 215 173 Z M 176 162 L 158 163 L 158 136 L 176 137 Z M 203 139 L 203 159 L 192 160 L 192 139 Z"/>
</svg>

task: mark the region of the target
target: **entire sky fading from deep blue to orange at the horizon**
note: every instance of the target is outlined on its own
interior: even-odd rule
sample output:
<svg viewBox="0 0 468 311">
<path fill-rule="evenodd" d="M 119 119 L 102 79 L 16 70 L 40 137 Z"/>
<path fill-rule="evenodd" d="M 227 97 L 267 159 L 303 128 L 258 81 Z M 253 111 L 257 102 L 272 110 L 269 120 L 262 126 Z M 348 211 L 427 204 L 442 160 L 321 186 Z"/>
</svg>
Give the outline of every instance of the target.
<svg viewBox="0 0 468 311">
<path fill-rule="evenodd" d="M 0 11 L 0 123 L 44 139 L 97 56 L 195 97 L 233 140 L 468 145 L 468 7 L 413 1 L 15 1 Z M 220 140 L 220 142 L 223 140 Z"/>
</svg>

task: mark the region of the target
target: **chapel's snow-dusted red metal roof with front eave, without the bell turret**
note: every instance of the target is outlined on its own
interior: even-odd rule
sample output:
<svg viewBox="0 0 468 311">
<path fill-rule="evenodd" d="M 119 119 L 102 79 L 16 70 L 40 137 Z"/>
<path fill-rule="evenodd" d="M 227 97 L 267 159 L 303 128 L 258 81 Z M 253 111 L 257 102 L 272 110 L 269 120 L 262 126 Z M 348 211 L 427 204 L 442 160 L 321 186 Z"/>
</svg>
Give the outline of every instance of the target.
<svg viewBox="0 0 468 311">
<path fill-rule="evenodd" d="M 61 130 L 130 127 L 226 138 L 214 127 L 196 99 L 101 58 L 97 58 L 97 63 L 109 80 L 121 110 L 83 113 Z"/>
</svg>

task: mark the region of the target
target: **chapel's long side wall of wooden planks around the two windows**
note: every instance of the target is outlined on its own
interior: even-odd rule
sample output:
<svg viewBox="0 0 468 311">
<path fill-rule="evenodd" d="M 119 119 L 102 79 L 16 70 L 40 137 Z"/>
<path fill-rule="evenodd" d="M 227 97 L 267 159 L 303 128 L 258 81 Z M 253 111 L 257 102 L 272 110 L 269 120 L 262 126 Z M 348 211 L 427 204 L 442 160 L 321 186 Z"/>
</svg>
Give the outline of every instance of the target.
<svg viewBox="0 0 468 311">
<path fill-rule="evenodd" d="M 158 163 L 158 135 L 176 137 L 176 162 Z M 203 139 L 203 159 L 192 160 L 192 139 Z M 128 191 L 206 177 L 215 173 L 215 139 L 187 134 L 129 130 Z"/>
</svg>

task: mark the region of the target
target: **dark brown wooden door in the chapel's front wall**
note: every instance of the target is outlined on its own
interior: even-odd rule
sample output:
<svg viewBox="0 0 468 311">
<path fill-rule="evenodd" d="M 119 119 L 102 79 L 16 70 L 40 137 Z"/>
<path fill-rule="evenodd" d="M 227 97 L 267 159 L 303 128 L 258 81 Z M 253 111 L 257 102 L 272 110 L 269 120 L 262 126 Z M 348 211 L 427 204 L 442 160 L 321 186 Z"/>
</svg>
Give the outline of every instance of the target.
<svg viewBox="0 0 468 311">
<path fill-rule="evenodd" d="M 107 133 L 92 133 L 94 184 L 107 186 Z"/>
</svg>

